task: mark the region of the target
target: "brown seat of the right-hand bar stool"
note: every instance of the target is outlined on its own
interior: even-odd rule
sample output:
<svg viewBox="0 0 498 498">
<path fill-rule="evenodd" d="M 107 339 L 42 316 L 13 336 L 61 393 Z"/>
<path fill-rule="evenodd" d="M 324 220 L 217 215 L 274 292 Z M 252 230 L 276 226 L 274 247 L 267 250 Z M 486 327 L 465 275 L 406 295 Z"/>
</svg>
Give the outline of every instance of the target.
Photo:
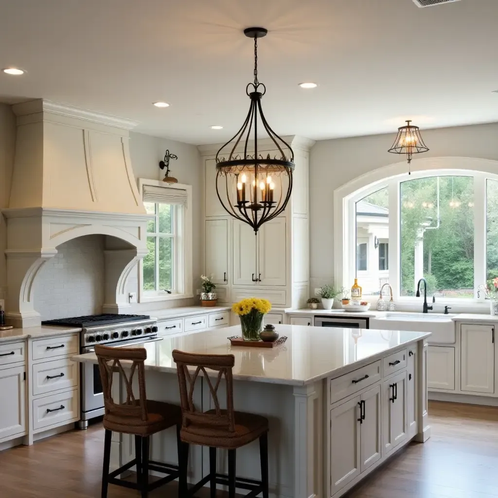
<svg viewBox="0 0 498 498">
<path fill-rule="evenodd" d="M 212 419 L 219 418 L 216 410 L 208 410 L 203 415 Z M 227 410 L 220 410 L 222 417 L 228 417 Z M 180 437 L 184 443 L 200 444 L 224 450 L 233 450 L 259 439 L 268 432 L 268 420 L 261 415 L 234 411 L 235 425 L 233 431 L 225 428 L 216 428 L 212 425 L 189 425 L 180 430 Z"/>
</svg>

